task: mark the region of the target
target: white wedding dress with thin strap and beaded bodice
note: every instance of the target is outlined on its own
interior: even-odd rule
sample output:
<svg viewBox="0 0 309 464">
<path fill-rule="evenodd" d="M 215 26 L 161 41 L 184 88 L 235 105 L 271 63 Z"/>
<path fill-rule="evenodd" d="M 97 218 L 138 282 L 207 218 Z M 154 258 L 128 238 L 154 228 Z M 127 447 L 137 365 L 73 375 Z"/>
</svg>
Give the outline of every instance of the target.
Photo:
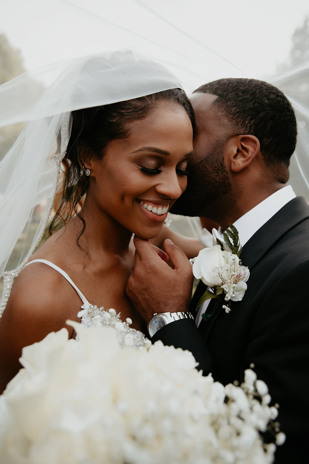
<svg viewBox="0 0 309 464">
<path fill-rule="evenodd" d="M 71 284 L 72 287 L 76 290 L 78 296 L 82 300 L 82 310 L 77 312 L 77 316 L 81 317 L 82 326 L 97 327 L 104 325 L 107 327 L 113 327 L 117 331 L 118 338 L 122 346 L 139 348 L 140 346 L 143 346 L 148 342 L 148 340 L 145 338 L 145 335 L 142 332 L 136 329 L 132 329 L 130 327 L 129 322 L 132 323 L 132 321 L 128 319 L 126 320 L 126 322 L 121 321 L 120 313 L 117 315 L 115 309 L 109 309 L 108 311 L 105 311 L 103 307 L 98 308 L 96 305 L 90 304 L 87 298 L 82 294 L 81 290 L 79 290 L 76 287 L 73 280 L 68 276 L 68 274 L 64 272 L 63 269 L 56 266 L 56 264 L 53 264 L 50 261 L 47 261 L 46 259 L 33 259 L 32 261 L 30 261 L 30 263 L 26 264 L 26 266 L 29 266 L 29 264 L 32 263 L 44 263 L 52 267 L 53 269 L 55 269 L 55 271 L 60 272 L 60 274 L 62 274 L 63 277 L 69 282 L 69 284 Z M 76 335 L 76 338 L 78 338 L 78 335 Z"/>
</svg>

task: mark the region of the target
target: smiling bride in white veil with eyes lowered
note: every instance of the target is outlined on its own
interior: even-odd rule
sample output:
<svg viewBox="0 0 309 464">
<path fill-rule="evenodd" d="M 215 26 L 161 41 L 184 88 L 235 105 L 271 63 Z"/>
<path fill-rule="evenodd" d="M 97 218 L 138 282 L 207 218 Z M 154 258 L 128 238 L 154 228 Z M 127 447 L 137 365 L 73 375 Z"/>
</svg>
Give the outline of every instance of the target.
<svg viewBox="0 0 309 464">
<path fill-rule="evenodd" d="M 24 346 L 62 327 L 70 337 L 76 336 L 65 321 L 78 321 L 81 306 L 115 308 L 122 321 L 129 318 L 134 329 L 143 329 L 125 294 L 133 265 L 132 233 L 146 239 L 158 236 L 170 206 L 187 185 L 194 114 L 177 79 L 130 53 L 86 57 L 78 65 L 78 77 L 73 60 L 37 103 L 44 109 L 45 126 L 49 122 L 45 132 L 51 130 L 53 140 L 40 136 L 45 145 L 53 142 L 57 147 L 53 159 L 58 168 L 63 158 L 61 182 L 52 235 L 33 254 L 30 247 L 17 270 L 8 273 L 17 278 L 11 292 L 4 291 L 9 297 L 0 322 L 1 390 L 18 372 Z M 103 98 L 100 92 L 105 92 Z M 72 111 L 65 117 L 69 105 Z M 24 129 L 24 157 L 36 122 L 39 125 L 42 118 Z M 17 141 L 12 150 L 19 145 Z M 41 158 L 44 153 L 42 149 Z M 45 170 L 47 159 L 51 163 L 46 156 Z M 32 171 L 28 174 L 31 177 Z M 19 187 L 19 193 L 28 195 L 25 187 Z M 2 206 L 6 207 L 5 198 Z M 201 246 L 191 242 L 187 248 L 193 257 Z"/>
</svg>

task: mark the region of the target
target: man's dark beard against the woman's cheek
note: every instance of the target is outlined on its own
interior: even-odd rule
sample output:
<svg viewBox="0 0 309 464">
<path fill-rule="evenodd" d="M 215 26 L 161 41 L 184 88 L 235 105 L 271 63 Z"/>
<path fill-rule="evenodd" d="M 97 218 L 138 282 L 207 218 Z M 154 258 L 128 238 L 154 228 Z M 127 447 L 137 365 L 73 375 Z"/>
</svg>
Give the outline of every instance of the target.
<svg viewBox="0 0 309 464">
<path fill-rule="evenodd" d="M 201 161 L 189 167 L 187 188 L 171 207 L 170 213 L 215 220 L 222 200 L 231 192 L 224 163 L 224 145 L 225 142 L 217 144 Z"/>
</svg>

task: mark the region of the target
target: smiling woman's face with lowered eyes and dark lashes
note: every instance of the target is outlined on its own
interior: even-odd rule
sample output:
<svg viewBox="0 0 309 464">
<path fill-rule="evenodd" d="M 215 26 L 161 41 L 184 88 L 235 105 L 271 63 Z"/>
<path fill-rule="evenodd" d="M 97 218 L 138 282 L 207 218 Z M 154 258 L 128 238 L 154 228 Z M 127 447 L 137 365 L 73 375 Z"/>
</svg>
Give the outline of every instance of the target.
<svg viewBox="0 0 309 464">
<path fill-rule="evenodd" d="M 84 158 L 91 171 L 84 211 L 101 216 L 104 227 L 153 238 L 187 186 L 192 124 L 180 105 L 158 102 L 126 129 L 127 137 L 109 142 L 101 160 Z"/>
</svg>

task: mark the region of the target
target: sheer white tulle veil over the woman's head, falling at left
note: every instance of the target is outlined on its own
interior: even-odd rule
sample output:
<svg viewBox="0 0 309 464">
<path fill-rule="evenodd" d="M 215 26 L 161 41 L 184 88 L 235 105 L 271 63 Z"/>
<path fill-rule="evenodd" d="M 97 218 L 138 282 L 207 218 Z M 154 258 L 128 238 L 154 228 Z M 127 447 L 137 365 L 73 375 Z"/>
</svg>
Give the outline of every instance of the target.
<svg viewBox="0 0 309 464">
<path fill-rule="evenodd" d="M 48 85 L 47 85 L 48 83 Z M 13 279 L 38 245 L 53 207 L 70 112 L 182 87 L 162 65 L 131 51 L 44 66 L 0 86 L 0 316 Z M 10 147 L 10 129 L 25 124 Z"/>
</svg>

